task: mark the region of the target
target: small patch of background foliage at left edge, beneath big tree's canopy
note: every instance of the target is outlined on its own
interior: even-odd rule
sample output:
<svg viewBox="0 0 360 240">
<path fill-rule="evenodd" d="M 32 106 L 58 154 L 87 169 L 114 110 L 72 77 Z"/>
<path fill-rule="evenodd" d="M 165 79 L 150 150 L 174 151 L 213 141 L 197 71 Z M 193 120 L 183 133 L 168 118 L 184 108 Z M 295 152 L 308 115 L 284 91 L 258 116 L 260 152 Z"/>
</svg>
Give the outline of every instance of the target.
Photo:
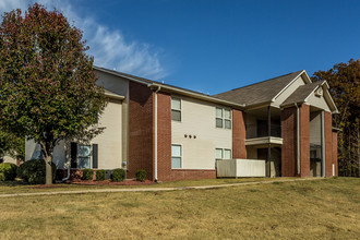
<svg viewBox="0 0 360 240">
<path fill-rule="evenodd" d="M 23 160 L 25 158 L 25 136 L 16 136 L 0 130 L 0 158 L 5 155 Z"/>
</svg>

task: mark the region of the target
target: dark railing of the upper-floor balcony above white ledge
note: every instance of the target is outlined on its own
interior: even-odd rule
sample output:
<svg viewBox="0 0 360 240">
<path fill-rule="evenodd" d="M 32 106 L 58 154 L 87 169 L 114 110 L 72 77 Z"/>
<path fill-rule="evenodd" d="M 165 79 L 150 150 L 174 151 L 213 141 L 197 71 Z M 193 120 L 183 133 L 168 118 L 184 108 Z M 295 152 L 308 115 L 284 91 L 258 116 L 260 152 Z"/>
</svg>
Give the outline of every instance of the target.
<svg viewBox="0 0 360 240">
<path fill-rule="evenodd" d="M 265 136 L 281 137 L 281 124 L 271 124 L 271 135 L 268 135 L 267 124 L 248 124 L 247 125 L 247 139 L 256 139 Z"/>
</svg>

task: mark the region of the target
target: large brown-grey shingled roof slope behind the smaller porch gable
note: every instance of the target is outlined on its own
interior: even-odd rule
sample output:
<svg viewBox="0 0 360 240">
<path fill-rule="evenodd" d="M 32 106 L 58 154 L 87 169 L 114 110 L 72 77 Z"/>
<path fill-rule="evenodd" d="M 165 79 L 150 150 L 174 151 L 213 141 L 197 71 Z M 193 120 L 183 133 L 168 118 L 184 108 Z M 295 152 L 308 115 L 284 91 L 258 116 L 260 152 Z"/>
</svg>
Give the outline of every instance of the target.
<svg viewBox="0 0 360 240">
<path fill-rule="evenodd" d="M 278 93 L 280 93 L 292 80 L 295 80 L 302 72 L 303 70 L 292 72 L 260 83 L 217 94 L 214 95 L 214 97 L 247 106 L 269 103 Z"/>
</svg>

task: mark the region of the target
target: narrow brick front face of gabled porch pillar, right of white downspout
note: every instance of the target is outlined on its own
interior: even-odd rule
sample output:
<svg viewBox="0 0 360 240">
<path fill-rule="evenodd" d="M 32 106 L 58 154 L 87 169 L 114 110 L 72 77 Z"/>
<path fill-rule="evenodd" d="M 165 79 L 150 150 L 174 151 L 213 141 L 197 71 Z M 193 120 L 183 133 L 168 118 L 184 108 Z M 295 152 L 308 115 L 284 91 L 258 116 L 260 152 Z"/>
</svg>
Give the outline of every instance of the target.
<svg viewBox="0 0 360 240">
<path fill-rule="evenodd" d="M 300 110 L 300 177 L 310 176 L 310 107 L 301 105 Z"/>
</svg>

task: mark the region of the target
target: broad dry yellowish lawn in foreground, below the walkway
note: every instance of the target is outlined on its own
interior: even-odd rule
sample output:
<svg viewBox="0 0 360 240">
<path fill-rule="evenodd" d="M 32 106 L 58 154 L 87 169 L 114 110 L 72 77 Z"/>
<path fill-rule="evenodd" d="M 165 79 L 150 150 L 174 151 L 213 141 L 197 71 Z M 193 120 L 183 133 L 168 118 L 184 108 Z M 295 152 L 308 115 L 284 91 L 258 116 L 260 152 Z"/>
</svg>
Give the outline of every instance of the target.
<svg viewBox="0 0 360 240">
<path fill-rule="evenodd" d="M 0 239 L 360 239 L 360 179 L 7 197 L 0 213 Z"/>
</svg>

